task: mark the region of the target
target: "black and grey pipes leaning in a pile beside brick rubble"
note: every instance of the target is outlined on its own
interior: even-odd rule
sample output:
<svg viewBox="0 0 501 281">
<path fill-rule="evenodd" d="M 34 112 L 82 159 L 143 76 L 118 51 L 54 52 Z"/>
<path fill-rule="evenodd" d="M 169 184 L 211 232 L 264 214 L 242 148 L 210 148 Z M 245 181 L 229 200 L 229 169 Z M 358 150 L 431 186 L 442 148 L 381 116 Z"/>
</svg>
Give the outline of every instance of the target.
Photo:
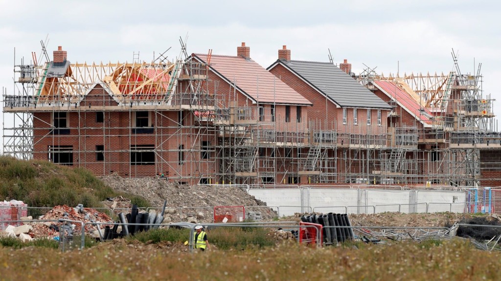
<svg viewBox="0 0 501 281">
<path fill-rule="evenodd" d="M 150 229 L 158 228 L 158 224 L 162 223 L 163 215 L 165 213 L 165 207 L 167 205 L 167 200 L 163 202 L 162 211 L 160 214 L 155 212 L 139 212 L 137 205 L 132 205 L 131 212 L 124 215 L 124 213 L 119 213 L 117 222 L 122 225 L 122 231 L 117 232 L 118 224 L 115 224 L 112 228 L 110 226 L 105 226 L 103 240 L 109 240 L 116 237 L 134 235 L 134 233 L 139 231 L 148 231 Z M 132 223 L 141 223 L 131 225 Z"/>
</svg>

